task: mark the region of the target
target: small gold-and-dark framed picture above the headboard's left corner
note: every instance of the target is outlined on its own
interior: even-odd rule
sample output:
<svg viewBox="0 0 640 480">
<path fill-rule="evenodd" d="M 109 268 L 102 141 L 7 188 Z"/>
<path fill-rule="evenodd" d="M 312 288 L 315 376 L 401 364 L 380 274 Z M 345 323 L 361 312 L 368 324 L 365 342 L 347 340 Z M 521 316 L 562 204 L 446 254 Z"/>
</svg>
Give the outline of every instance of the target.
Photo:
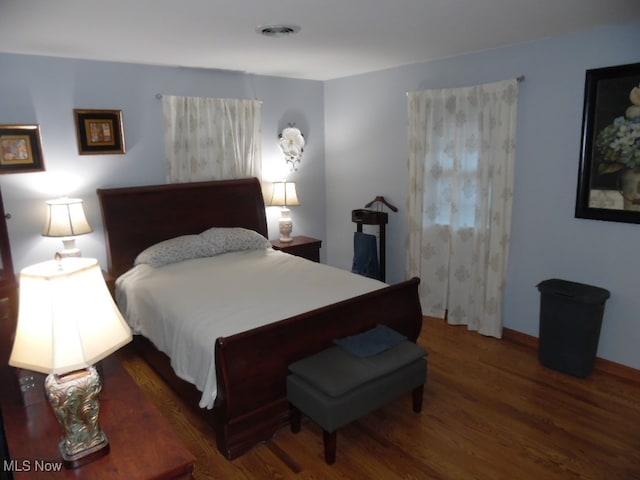
<svg viewBox="0 0 640 480">
<path fill-rule="evenodd" d="M 79 110 L 76 135 L 80 155 L 125 153 L 122 110 Z"/>
</svg>

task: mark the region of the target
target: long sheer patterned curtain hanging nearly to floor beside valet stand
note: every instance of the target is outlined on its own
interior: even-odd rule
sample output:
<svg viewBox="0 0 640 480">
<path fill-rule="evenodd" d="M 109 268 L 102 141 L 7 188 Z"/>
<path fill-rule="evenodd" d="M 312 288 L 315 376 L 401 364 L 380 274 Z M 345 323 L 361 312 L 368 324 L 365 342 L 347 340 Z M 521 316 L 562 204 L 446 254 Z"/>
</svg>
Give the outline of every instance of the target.
<svg viewBox="0 0 640 480">
<path fill-rule="evenodd" d="M 425 315 L 502 337 L 518 82 L 411 92 L 407 273 Z"/>
</svg>

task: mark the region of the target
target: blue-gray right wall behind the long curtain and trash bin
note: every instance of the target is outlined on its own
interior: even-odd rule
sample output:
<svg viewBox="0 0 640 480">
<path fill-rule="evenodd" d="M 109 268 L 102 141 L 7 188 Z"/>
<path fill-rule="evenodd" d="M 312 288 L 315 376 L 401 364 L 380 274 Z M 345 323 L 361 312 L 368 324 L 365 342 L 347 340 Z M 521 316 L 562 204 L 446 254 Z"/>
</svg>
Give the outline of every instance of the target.
<svg viewBox="0 0 640 480">
<path fill-rule="evenodd" d="M 525 75 L 520 85 L 505 326 L 538 335 L 548 278 L 611 291 L 598 354 L 640 368 L 640 225 L 574 218 L 585 70 L 640 62 L 640 24 L 604 28 L 325 83 L 327 257 L 351 262 L 353 208 L 401 207 L 387 227 L 387 280 L 404 278 L 406 92 Z"/>
</svg>

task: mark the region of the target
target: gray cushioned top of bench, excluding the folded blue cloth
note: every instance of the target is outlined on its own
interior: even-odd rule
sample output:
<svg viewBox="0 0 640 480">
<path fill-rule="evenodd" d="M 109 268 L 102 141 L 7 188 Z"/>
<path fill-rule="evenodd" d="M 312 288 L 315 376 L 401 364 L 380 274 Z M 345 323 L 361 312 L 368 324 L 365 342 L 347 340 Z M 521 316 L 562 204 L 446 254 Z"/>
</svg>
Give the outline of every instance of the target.
<svg viewBox="0 0 640 480">
<path fill-rule="evenodd" d="M 321 392 L 339 397 L 426 355 L 426 350 L 408 340 L 366 358 L 331 347 L 292 363 L 289 370 Z"/>
</svg>

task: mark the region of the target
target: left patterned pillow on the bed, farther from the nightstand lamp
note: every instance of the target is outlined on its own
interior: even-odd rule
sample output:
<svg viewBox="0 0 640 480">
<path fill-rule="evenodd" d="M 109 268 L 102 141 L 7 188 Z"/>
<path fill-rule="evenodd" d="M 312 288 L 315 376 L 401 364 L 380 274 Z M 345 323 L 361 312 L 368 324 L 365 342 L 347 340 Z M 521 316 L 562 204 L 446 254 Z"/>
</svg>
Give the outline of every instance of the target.
<svg viewBox="0 0 640 480">
<path fill-rule="evenodd" d="M 212 245 L 199 235 L 182 235 L 144 249 L 133 264 L 146 263 L 158 268 L 170 263 L 213 255 L 215 251 Z"/>
</svg>

